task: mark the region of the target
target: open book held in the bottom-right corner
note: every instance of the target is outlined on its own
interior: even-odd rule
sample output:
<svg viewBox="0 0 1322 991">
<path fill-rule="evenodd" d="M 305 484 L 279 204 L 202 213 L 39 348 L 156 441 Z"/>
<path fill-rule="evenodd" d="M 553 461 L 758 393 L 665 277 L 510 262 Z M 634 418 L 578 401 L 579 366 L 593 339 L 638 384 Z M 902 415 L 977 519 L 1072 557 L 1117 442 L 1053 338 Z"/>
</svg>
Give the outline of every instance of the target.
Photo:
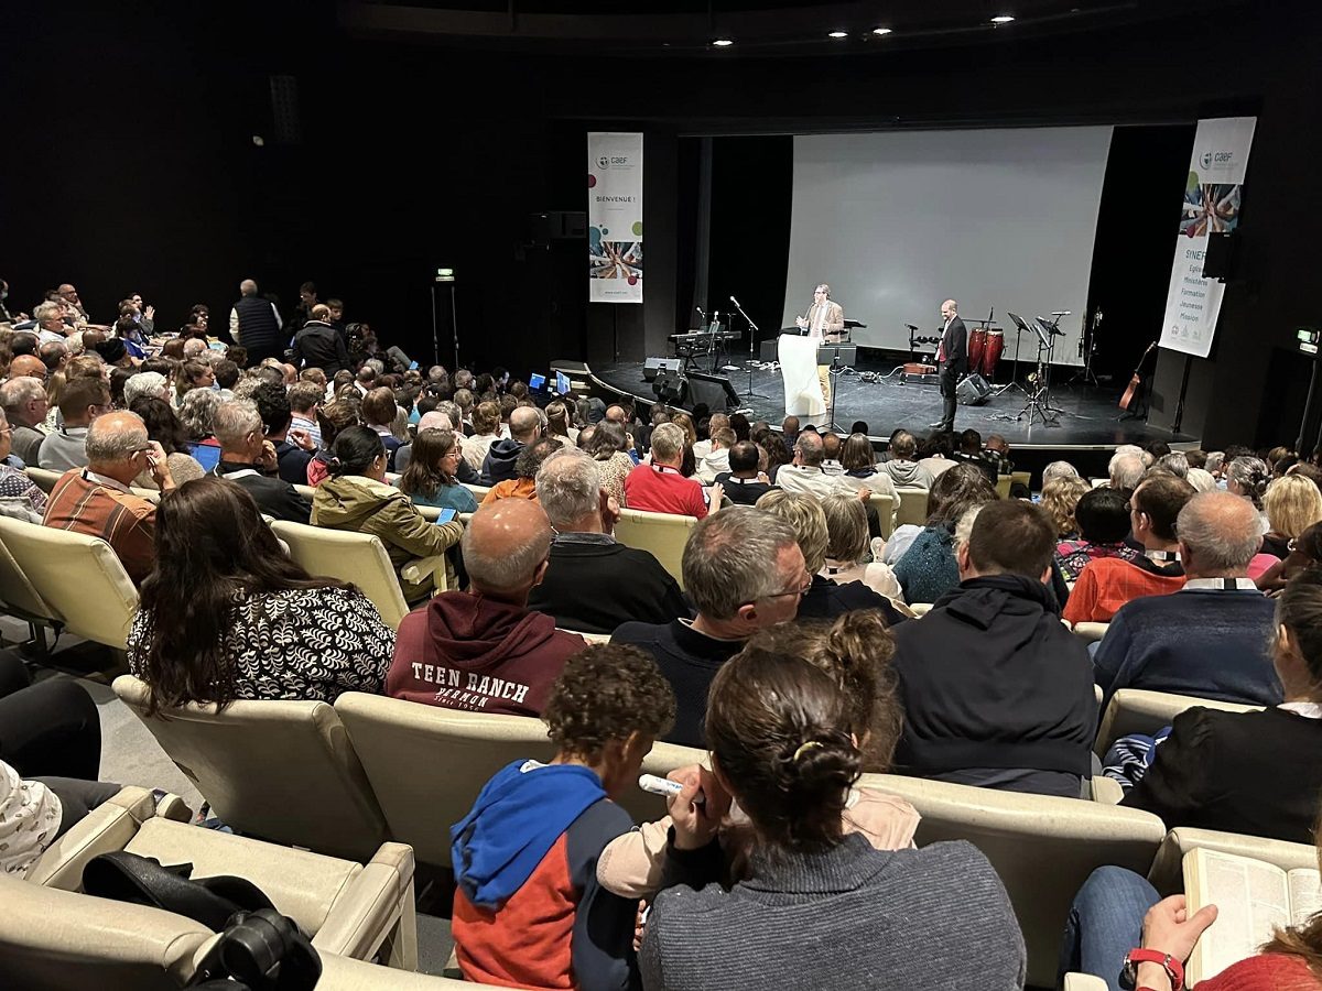
<svg viewBox="0 0 1322 991">
<path fill-rule="evenodd" d="M 1232 963 L 1255 955 L 1277 926 L 1302 925 L 1322 908 L 1317 871 L 1282 871 L 1264 860 L 1212 850 L 1185 855 L 1185 896 L 1188 914 L 1216 905 L 1186 966 L 1185 983 L 1195 987 Z"/>
</svg>

